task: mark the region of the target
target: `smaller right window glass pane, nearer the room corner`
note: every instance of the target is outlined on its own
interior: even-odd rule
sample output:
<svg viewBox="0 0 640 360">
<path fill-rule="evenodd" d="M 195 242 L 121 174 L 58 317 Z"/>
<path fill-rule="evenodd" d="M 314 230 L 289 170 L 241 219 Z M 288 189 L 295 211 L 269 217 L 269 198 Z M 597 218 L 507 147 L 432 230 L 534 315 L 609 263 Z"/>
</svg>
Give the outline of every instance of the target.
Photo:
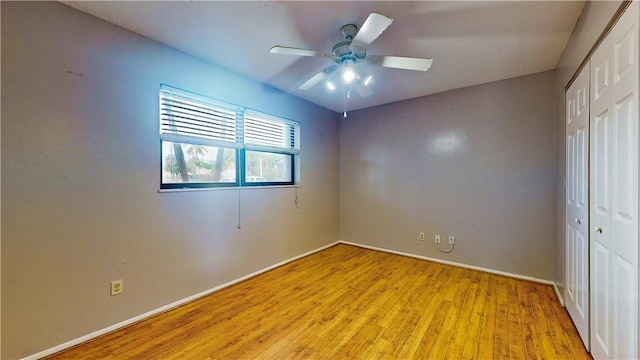
<svg viewBox="0 0 640 360">
<path fill-rule="evenodd" d="M 293 155 L 246 151 L 246 182 L 292 182 Z"/>
</svg>

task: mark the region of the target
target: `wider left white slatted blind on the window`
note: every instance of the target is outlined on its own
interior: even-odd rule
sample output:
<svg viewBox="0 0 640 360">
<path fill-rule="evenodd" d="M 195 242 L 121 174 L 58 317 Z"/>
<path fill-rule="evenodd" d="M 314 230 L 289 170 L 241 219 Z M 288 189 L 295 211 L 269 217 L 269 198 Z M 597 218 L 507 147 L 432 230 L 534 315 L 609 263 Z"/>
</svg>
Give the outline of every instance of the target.
<svg viewBox="0 0 640 360">
<path fill-rule="evenodd" d="M 242 147 L 239 111 L 196 95 L 160 89 L 160 138 L 163 141 Z"/>
</svg>

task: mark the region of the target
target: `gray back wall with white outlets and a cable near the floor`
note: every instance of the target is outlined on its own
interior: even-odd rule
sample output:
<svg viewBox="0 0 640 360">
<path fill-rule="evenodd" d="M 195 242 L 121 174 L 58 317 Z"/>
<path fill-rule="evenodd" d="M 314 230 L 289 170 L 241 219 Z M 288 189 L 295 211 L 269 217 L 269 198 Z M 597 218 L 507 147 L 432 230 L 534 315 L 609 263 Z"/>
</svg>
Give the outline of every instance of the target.
<svg viewBox="0 0 640 360">
<path fill-rule="evenodd" d="M 351 113 L 340 239 L 551 280 L 555 84 L 549 71 Z"/>
</svg>

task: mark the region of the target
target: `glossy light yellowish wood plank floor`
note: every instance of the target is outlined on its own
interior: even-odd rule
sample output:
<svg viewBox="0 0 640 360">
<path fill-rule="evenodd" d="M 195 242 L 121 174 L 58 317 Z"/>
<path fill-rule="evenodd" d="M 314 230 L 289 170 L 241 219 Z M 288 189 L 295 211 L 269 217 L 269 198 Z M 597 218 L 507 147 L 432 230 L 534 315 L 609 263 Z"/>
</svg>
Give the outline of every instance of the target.
<svg viewBox="0 0 640 360">
<path fill-rule="evenodd" d="M 51 359 L 589 359 L 551 286 L 337 245 Z"/>
</svg>

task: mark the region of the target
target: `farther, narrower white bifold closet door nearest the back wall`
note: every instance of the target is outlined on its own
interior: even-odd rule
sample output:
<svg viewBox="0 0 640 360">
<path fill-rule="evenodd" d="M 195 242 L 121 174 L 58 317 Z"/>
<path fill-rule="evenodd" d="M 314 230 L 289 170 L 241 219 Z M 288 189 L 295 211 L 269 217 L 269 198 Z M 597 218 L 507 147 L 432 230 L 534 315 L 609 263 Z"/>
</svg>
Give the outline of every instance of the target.
<svg viewBox="0 0 640 360">
<path fill-rule="evenodd" d="M 589 349 L 589 64 L 566 93 L 565 304 Z"/>
</svg>

